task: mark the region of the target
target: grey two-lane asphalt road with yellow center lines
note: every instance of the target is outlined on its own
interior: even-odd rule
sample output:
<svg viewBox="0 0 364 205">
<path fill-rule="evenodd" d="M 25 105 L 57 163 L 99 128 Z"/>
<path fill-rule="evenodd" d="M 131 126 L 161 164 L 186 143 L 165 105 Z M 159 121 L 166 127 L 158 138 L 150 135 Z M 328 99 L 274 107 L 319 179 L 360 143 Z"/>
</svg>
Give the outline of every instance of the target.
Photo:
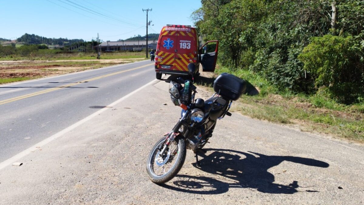
<svg viewBox="0 0 364 205">
<path fill-rule="evenodd" d="M 0 162 L 155 79 L 153 65 L 125 65 L 0 86 Z"/>
</svg>

